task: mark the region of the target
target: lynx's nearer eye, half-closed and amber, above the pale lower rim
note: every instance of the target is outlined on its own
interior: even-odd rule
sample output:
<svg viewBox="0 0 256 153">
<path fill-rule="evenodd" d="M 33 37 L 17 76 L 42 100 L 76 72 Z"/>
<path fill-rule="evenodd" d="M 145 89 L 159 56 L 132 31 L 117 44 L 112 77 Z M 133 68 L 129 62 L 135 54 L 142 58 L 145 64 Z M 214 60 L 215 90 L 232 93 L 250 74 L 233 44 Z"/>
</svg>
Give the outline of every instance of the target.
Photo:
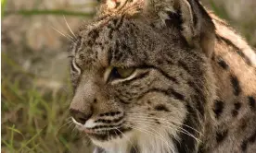
<svg viewBox="0 0 256 153">
<path fill-rule="evenodd" d="M 134 68 L 119 68 L 113 67 L 109 79 L 126 78 L 134 73 Z"/>
</svg>

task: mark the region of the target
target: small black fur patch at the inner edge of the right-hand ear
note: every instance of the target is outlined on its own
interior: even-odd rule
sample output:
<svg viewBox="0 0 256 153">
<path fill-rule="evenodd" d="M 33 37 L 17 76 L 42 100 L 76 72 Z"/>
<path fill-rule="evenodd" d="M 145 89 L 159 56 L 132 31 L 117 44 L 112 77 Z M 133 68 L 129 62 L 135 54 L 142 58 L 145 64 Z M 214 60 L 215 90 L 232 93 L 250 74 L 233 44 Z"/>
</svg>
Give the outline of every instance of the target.
<svg viewBox="0 0 256 153">
<path fill-rule="evenodd" d="M 180 10 L 178 10 L 177 12 L 167 11 L 166 13 L 168 15 L 168 18 L 165 19 L 166 26 L 183 30 L 182 28 L 183 20 L 181 16 L 181 11 Z"/>
</svg>

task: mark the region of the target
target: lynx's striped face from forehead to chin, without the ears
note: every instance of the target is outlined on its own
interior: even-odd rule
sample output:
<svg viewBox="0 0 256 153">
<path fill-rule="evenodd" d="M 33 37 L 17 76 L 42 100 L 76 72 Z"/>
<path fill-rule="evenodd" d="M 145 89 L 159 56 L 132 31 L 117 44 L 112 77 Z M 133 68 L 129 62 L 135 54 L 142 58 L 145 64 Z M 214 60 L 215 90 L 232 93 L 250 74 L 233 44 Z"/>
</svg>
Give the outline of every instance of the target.
<svg viewBox="0 0 256 153">
<path fill-rule="evenodd" d="M 156 149 L 171 152 L 170 138 L 196 141 L 205 101 L 193 100 L 203 96 L 197 94 L 203 94 L 201 69 L 207 66 L 205 55 L 189 48 L 177 29 L 160 31 L 135 19 L 111 18 L 100 28 L 81 30 L 72 53 L 70 112 L 96 145 L 116 150 L 112 146 L 121 139 L 128 144 L 125 150 L 133 148 L 129 141 L 138 147 L 156 141 Z M 192 70 L 198 71 L 196 78 Z"/>
</svg>

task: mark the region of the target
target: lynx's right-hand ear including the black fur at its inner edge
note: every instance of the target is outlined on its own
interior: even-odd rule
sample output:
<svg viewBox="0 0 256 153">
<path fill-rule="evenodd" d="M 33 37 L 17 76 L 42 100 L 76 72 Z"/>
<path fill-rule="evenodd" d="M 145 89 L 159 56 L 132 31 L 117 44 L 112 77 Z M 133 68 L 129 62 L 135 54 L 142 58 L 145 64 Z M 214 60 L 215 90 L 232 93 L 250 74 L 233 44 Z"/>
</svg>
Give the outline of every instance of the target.
<svg viewBox="0 0 256 153">
<path fill-rule="evenodd" d="M 164 16 L 158 13 L 160 20 L 164 20 L 167 27 L 180 29 L 190 46 L 202 49 L 211 58 L 214 50 L 215 27 L 211 17 L 198 0 L 155 0 L 155 2 L 159 4 L 153 7 L 162 6 L 158 10 L 166 14 Z"/>
</svg>

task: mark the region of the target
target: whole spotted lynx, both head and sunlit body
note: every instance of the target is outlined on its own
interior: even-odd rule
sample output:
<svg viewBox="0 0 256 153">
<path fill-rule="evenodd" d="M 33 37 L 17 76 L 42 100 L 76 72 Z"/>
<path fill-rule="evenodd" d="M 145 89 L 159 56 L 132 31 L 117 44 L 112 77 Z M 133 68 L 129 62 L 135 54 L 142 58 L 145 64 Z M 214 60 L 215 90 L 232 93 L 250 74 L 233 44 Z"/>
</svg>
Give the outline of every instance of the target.
<svg viewBox="0 0 256 153">
<path fill-rule="evenodd" d="M 256 54 L 198 0 L 105 0 L 70 47 L 95 153 L 255 153 Z"/>
</svg>

